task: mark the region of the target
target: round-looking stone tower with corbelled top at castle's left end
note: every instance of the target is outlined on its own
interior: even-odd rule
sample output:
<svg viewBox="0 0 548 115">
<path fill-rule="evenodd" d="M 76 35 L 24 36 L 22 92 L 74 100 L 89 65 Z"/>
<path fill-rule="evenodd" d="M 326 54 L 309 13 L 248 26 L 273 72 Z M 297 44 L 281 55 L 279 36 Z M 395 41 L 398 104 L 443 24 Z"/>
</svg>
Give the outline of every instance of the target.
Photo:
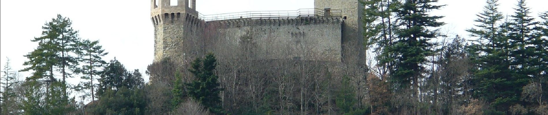
<svg viewBox="0 0 548 115">
<path fill-rule="evenodd" d="M 171 1 L 176 1 L 176 4 L 171 4 Z M 197 38 L 192 37 L 196 34 L 192 28 L 201 22 L 195 8 L 196 0 L 151 0 L 151 20 L 155 31 L 154 62 L 164 57 L 187 55 L 188 52 L 181 52 L 189 51 L 182 50 L 188 48 L 183 45 L 196 42 L 191 39 Z"/>
</svg>

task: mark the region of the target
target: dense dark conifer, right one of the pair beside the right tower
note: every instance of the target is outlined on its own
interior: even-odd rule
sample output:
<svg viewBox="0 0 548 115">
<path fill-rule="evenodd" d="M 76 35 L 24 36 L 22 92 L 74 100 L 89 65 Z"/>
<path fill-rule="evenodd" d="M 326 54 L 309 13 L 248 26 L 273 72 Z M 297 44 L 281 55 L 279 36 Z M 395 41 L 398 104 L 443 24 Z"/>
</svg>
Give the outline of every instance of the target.
<svg viewBox="0 0 548 115">
<path fill-rule="evenodd" d="M 443 26 L 443 22 L 437 22 L 443 16 L 430 16 L 429 11 L 439 9 L 443 5 L 432 5 L 437 0 L 406 0 L 395 11 L 399 20 L 396 31 L 398 40 L 392 46 L 387 47 L 385 53 L 386 62 L 393 62 L 391 72 L 392 80 L 400 84 L 399 88 L 406 88 L 413 81 L 414 89 L 418 94 L 418 80 L 425 71 L 421 66 L 426 64 L 426 57 L 433 55 L 434 43 L 430 39 L 439 35 L 435 27 Z"/>
</svg>

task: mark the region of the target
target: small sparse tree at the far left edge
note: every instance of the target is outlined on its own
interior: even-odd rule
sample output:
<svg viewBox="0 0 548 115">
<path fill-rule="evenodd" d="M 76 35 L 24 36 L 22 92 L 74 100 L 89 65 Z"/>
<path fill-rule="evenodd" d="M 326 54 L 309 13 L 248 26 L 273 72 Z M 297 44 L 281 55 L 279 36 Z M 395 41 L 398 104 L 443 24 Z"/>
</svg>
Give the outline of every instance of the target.
<svg viewBox="0 0 548 115">
<path fill-rule="evenodd" d="M 13 90 L 15 85 L 19 83 L 17 79 L 17 73 L 12 69 L 10 65 L 10 59 L 6 58 L 4 68 L 2 69 L 2 77 L 0 78 L 1 98 L 0 98 L 0 114 L 16 114 L 16 102 L 17 96 Z"/>
</svg>

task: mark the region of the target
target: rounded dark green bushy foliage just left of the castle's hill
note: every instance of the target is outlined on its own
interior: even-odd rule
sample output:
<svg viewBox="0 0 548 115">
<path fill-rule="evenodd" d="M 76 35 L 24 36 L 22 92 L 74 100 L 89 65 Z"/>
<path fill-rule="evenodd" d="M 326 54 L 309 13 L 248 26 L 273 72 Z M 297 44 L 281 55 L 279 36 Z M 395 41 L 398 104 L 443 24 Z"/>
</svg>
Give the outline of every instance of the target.
<svg viewBox="0 0 548 115">
<path fill-rule="evenodd" d="M 102 72 L 99 100 L 92 102 L 95 114 L 144 114 L 144 81 L 139 70 L 127 71 L 118 60 L 111 60 Z"/>
</svg>

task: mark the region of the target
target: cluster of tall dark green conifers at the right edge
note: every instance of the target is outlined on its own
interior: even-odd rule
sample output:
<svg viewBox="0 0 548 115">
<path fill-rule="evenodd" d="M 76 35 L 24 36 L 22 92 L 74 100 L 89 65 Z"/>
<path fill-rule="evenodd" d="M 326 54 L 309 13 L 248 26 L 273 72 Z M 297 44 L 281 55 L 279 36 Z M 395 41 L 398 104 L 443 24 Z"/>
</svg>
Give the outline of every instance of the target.
<svg viewBox="0 0 548 115">
<path fill-rule="evenodd" d="M 484 13 L 479 14 L 477 28 L 469 29 L 479 37 L 469 47 L 476 68 L 473 72 L 476 87 L 474 94 L 490 102 L 487 114 L 510 114 L 512 105 L 529 106 L 521 101 L 524 86 L 537 82 L 548 69 L 546 39 L 542 28 L 529 16 L 525 0 L 516 4 L 515 13 L 505 22 L 496 8 L 498 1 L 487 2 Z M 532 81 L 533 80 L 533 81 Z"/>
</svg>

